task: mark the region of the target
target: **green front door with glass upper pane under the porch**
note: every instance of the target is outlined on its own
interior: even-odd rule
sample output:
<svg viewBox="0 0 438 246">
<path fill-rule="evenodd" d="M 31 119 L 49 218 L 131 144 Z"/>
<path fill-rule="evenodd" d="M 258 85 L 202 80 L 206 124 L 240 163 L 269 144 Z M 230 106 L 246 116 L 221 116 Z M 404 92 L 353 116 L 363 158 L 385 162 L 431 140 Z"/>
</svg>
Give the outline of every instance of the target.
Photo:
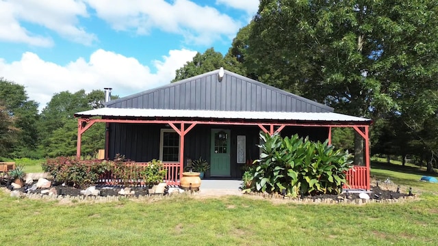
<svg viewBox="0 0 438 246">
<path fill-rule="evenodd" d="M 230 176 L 230 131 L 211 129 L 210 176 Z"/>
</svg>

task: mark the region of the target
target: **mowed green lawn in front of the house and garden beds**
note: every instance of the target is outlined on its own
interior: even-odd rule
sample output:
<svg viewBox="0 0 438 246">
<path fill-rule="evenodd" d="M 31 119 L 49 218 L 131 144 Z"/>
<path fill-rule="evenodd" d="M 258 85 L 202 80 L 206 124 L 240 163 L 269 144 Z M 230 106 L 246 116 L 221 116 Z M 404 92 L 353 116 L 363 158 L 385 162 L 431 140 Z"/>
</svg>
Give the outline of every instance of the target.
<svg viewBox="0 0 438 246">
<path fill-rule="evenodd" d="M 192 196 L 61 204 L 0 195 L 3 245 L 438 245 L 438 199 L 364 206 Z"/>
</svg>

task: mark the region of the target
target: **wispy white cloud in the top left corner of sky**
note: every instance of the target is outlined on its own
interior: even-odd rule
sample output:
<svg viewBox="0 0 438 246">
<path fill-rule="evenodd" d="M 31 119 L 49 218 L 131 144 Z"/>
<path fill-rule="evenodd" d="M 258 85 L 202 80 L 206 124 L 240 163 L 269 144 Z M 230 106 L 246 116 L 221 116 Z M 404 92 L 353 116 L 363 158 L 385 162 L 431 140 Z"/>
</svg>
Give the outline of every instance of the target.
<svg viewBox="0 0 438 246">
<path fill-rule="evenodd" d="M 0 40 L 53 45 L 51 38 L 36 36 L 23 27 L 23 23 L 31 23 L 73 42 L 90 45 L 97 38 L 77 26 L 78 16 L 88 17 L 86 4 L 81 0 L 3 0 L 0 1 Z"/>
</svg>

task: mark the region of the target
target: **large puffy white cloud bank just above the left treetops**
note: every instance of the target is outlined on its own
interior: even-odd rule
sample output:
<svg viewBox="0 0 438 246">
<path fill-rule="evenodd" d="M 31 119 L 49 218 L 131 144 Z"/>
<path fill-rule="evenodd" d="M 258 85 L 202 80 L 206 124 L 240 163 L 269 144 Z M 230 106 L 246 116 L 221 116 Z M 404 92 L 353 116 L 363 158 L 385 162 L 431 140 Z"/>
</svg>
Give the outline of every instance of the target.
<svg viewBox="0 0 438 246">
<path fill-rule="evenodd" d="M 30 100 L 46 106 L 55 93 L 68 90 L 86 92 L 112 87 L 113 94 L 127 96 L 166 85 L 175 78 L 175 70 L 192 60 L 196 51 L 186 49 L 169 51 L 163 61 L 154 61 L 156 73 L 133 57 L 99 49 L 86 61 L 79 57 L 66 66 L 44 61 L 27 52 L 19 61 L 8 64 L 0 59 L 0 74 L 5 79 L 25 86 Z"/>
</svg>

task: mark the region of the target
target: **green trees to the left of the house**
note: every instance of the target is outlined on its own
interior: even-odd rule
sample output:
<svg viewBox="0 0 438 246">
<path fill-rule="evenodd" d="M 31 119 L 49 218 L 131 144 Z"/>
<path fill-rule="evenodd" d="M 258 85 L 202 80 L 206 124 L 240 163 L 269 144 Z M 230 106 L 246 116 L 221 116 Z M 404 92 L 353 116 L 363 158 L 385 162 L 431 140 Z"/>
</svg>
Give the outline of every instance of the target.
<svg viewBox="0 0 438 246">
<path fill-rule="evenodd" d="M 38 103 L 29 100 L 23 85 L 0 78 L 0 160 L 75 155 L 73 114 L 101 108 L 104 100 L 103 90 L 59 92 L 38 112 Z M 82 138 L 81 152 L 94 156 L 105 146 L 105 126 L 96 124 Z"/>
</svg>

